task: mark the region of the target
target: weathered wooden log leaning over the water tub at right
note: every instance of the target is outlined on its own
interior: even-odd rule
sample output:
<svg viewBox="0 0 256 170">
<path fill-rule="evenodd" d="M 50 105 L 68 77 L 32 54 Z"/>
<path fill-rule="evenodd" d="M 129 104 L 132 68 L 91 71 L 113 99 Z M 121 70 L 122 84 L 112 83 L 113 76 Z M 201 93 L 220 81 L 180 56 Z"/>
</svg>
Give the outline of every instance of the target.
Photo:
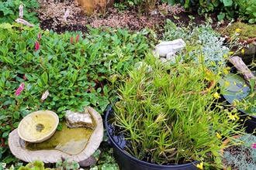
<svg viewBox="0 0 256 170">
<path fill-rule="evenodd" d="M 244 76 L 244 80 L 250 84 L 250 80 L 254 79 L 254 90 L 256 90 L 256 79 L 251 70 L 246 66 L 244 61 L 239 56 L 232 56 L 229 59 L 230 63 L 232 63 L 236 69 Z"/>
</svg>

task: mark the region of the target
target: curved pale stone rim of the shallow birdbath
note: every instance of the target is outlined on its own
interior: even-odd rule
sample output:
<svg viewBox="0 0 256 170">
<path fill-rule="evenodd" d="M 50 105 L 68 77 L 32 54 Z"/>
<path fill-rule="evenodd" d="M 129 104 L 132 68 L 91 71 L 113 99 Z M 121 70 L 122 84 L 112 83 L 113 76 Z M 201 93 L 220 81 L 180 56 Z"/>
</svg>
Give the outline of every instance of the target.
<svg viewBox="0 0 256 170">
<path fill-rule="evenodd" d="M 17 129 L 9 134 L 9 148 L 12 151 L 12 154 L 24 162 L 34 162 L 36 160 L 40 160 L 44 163 L 56 163 L 59 159 L 61 159 L 61 157 L 67 158 L 68 162 L 85 161 L 85 159 L 92 156 L 92 154 L 99 148 L 104 133 L 102 116 L 92 107 L 85 107 L 85 109 L 90 110 L 90 113 L 95 120 L 96 128 L 89 138 L 85 149 L 78 155 L 69 155 L 58 150 L 29 151 L 26 148 L 22 148 L 20 145 Z"/>
</svg>

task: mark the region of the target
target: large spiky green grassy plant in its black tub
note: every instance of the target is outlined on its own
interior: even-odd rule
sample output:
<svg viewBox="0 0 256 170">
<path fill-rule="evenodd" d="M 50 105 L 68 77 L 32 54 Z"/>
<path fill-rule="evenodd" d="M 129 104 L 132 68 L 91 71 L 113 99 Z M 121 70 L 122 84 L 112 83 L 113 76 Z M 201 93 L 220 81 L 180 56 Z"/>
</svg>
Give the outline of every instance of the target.
<svg viewBox="0 0 256 170">
<path fill-rule="evenodd" d="M 182 72 L 188 66 L 185 63 L 172 66 L 150 56 L 144 62 L 130 70 L 129 78 L 118 87 L 119 100 L 106 114 L 106 131 L 120 168 L 215 165 L 221 138 L 239 134 L 242 128 L 230 119 L 233 113 L 215 102 L 216 88 L 200 93 L 206 88 L 202 79 L 206 73 L 196 72 L 203 64 Z"/>
</svg>

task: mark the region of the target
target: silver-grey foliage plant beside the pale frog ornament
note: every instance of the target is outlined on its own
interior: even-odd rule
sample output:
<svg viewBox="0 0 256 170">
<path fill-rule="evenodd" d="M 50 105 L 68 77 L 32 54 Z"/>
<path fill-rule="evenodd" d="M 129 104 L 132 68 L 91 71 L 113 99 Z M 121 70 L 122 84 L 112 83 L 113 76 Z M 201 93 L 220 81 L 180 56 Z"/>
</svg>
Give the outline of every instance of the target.
<svg viewBox="0 0 256 170">
<path fill-rule="evenodd" d="M 203 56 L 204 63 L 211 71 L 217 71 L 225 65 L 225 55 L 230 51 L 223 46 L 224 38 L 218 36 L 212 27 L 206 23 L 202 26 L 180 27 L 168 20 L 165 25 L 166 31 L 163 35 L 164 41 L 183 39 L 186 44 L 186 51 L 180 53 L 181 59 L 190 63 L 202 63 L 198 56 Z M 189 48 L 193 48 L 192 50 Z"/>
</svg>

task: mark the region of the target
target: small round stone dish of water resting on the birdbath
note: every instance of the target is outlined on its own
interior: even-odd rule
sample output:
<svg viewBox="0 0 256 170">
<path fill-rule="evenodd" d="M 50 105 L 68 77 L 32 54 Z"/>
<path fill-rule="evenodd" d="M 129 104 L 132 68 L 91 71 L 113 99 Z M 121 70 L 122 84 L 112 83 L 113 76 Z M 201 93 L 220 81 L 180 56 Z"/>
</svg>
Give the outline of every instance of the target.
<svg viewBox="0 0 256 170">
<path fill-rule="evenodd" d="M 28 114 L 19 123 L 19 138 L 40 143 L 52 137 L 59 124 L 59 117 L 50 110 L 38 110 Z"/>
</svg>

